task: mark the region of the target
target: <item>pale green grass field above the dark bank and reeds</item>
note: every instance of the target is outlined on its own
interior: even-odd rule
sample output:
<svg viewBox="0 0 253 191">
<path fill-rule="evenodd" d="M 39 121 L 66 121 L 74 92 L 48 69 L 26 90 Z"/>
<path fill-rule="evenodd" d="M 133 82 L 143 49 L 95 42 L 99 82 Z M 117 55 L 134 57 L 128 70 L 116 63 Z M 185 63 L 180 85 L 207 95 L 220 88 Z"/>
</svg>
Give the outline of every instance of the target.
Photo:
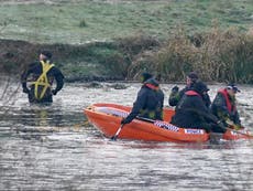
<svg viewBox="0 0 253 191">
<path fill-rule="evenodd" d="M 221 29 L 248 31 L 252 0 L 2 0 L 1 39 L 79 44 L 135 33 L 167 39 L 184 26 L 187 34 Z"/>
</svg>

